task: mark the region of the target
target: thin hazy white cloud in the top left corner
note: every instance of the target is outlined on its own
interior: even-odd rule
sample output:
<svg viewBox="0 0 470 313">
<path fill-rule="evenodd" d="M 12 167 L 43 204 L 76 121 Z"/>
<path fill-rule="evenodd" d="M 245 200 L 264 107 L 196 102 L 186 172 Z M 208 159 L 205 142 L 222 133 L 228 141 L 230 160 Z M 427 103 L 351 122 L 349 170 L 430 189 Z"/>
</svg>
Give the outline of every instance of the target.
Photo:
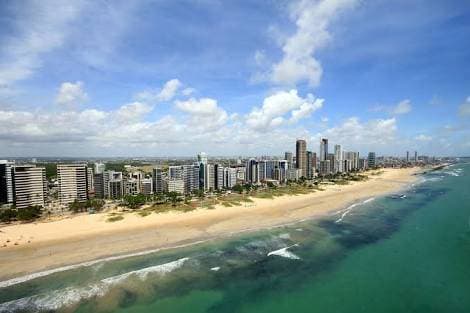
<svg viewBox="0 0 470 313">
<path fill-rule="evenodd" d="M 0 85 L 9 86 L 29 78 L 41 67 L 41 56 L 63 45 L 69 34 L 68 24 L 83 8 L 82 1 L 29 4 L 15 11 L 15 33 L 2 41 Z"/>
</svg>

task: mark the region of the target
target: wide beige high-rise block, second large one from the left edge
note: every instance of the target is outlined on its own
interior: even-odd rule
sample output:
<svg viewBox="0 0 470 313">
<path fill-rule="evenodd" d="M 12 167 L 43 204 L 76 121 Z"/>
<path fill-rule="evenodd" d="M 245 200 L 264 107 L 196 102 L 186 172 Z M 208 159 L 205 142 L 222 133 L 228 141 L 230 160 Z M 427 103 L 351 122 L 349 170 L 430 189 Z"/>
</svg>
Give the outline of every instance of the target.
<svg viewBox="0 0 470 313">
<path fill-rule="evenodd" d="M 86 164 L 58 164 L 59 200 L 67 205 L 88 199 L 88 168 Z"/>
</svg>

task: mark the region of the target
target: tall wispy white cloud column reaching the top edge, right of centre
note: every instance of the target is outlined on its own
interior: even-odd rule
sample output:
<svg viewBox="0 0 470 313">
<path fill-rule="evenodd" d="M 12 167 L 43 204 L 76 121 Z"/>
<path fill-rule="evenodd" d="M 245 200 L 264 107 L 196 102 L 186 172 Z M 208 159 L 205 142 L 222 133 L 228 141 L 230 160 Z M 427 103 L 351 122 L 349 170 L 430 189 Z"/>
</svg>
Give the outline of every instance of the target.
<svg viewBox="0 0 470 313">
<path fill-rule="evenodd" d="M 296 32 L 284 40 L 282 60 L 272 67 L 271 80 L 293 85 L 308 81 L 317 86 L 323 73 L 315 53 L 331 40 L 330 23 L 356 0 L 301 0 L 290 6 Z"/>
</svg>

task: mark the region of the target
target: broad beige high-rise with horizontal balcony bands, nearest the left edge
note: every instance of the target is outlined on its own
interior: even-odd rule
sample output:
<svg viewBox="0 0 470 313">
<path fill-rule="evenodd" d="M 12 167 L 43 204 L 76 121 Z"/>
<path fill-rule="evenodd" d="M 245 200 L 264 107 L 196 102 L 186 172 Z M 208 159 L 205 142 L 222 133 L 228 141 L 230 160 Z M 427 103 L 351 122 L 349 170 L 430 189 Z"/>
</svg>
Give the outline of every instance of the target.
<svg viewBox="0 0 470 313">
<path fill-rule="evenodd" d="M 17 209 L 44 207 L 47 195 L 46 169 L 34 165 L 13 167 L 13 199 Z"/>
</svg>

